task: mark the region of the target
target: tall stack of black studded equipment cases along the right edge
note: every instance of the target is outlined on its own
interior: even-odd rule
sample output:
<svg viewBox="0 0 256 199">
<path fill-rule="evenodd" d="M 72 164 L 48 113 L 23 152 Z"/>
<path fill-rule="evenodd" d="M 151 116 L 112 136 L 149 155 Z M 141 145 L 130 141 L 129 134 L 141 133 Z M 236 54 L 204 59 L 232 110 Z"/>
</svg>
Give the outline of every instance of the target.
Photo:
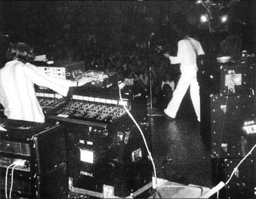
<svg viewBox="0 0 256 199">
<path fill-rule="evenodd" d="M 256 144 L 255 63 L 206 62 L 200 68 L 201 136 L 210 146 L 212 175 L 227 182 L 232 171 Z M 240 165 L 223 195 L 256 198 L 253 150 Z"/>
</svg>

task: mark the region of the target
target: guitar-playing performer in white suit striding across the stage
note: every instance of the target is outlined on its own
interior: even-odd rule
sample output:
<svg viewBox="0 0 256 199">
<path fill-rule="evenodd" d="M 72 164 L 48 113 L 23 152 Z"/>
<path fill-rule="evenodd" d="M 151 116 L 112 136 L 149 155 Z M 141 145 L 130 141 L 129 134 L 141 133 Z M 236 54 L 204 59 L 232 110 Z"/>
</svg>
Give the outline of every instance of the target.
<svg viewBox="0 0 256 199">
<path fill-rule="evenodd" d="M 167 108 L 164 109 L 164 113 L 172 119 L 176 117 L 180 103 L 190 86 L 191 100 L 193 102 L 197 120 L 200 122 L 200 95 L 199 85 L 196 79 L 196 51 L 198 55 L 204 54 L 200 42 L 187 35 L 184 39 L 178 42 L 177 56 L 170 56 L 168 53 L 164 54 L 166 58 L 170 59 L 172 64 L 180 63 L 181 75 L 179 82 L 173 92 L 172 100 L 169 102 Z"/>
</svg>

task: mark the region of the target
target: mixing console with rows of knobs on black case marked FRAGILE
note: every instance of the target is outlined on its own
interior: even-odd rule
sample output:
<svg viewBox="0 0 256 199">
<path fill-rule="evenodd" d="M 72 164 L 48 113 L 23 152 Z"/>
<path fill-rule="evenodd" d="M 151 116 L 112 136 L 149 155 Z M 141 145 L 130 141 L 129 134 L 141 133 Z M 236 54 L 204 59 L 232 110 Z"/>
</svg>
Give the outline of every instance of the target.
<svg viewBox="0 0 256 199">
<path fill-rule="evenodd" d="M 46 121 L 65 127 L 70 189 L 127 197 L 152 180 L 143 137 L 127 114 L 128 109 L 151 150 L 145 88 L 127 85 L 119 90 L 116 73 L 90 71 L 81 76 L 95 81 L 70 89 L 65 98 L 36 90 Z"/>
</svg>

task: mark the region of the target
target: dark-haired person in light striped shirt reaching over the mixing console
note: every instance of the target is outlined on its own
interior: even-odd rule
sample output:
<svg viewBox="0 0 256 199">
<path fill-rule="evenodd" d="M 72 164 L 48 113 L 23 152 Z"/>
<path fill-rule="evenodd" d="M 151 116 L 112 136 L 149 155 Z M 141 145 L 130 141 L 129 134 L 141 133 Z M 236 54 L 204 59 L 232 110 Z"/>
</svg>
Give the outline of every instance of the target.
<svg viewBox="0 0 256 199">
<path fill-rule="evenodd" d="M 8 62 L 0 69 L 0 104 L 9 119 L 45 122 L 34 84 L 50 88 L 66 97 L 70 87 L 83 86 L 93 81 L 92 77 L 71 81 L 48 76 L 29 63 L 35 58 L 33 48 L 22 42 L 12 44 L 6 52 L 6 58 Z"/>
</svg>

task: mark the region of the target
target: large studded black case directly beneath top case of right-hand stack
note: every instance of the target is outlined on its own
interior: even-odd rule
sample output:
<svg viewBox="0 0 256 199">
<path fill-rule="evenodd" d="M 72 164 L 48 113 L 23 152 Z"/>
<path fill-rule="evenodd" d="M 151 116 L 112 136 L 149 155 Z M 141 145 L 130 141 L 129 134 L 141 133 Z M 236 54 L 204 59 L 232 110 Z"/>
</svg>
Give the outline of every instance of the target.
<svg viewBox="0 0 256 199">
<path fill-rule="evenodd" d="M 248 122 L 255 123 L 255 96 L 201 97 L 201 136 L 212 157 L 244 157 L 256 142 L 256 133 L 243 129 Z"/>
</svg>

